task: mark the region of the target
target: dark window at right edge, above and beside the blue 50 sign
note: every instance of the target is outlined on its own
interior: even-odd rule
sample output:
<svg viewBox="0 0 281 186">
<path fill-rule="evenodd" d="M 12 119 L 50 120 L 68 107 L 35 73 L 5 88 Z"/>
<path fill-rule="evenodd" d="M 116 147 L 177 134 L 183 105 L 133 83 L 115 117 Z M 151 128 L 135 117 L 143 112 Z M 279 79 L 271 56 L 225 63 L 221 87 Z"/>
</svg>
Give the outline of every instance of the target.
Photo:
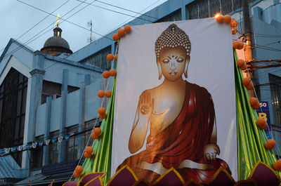
<svg viewBox="0 0 281 186">
<path fill-rule="evenodd" d="M 270 81 L 271 105 L 273 108 L 273 124 L 281 125 L 281 77 L 268 74 Z"/>
</svg>

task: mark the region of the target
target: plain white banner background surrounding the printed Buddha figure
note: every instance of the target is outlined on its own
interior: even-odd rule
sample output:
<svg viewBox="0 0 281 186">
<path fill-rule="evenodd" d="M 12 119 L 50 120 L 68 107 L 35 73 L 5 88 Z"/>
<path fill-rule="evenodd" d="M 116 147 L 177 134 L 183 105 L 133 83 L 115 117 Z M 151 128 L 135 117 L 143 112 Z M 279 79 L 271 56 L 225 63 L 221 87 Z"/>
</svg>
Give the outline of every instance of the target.
<svg viewBox="0 0 281 186">
<path fill-rule="evenodd" d="M 119 43 L 115 119 L 112 144 L 112 172 L 130 157 L 128 144 L 138 98 L 147 89 L 162 83 L 158 80 L 155 41 L 171 25 L 164 22 L 133 26 Z M 237 180 L 237 131 L 235 80 L 231 28 L 214 18 L 175 22 L 191 42 L 188 81 L 211 93 L 216 112 L 218 146 L 223 159 Z M 149 130 L 149 129 L 148 129 Z M 149 131 L 148 131 L 149 134 Z M 146 138 L 148 135 L 146 136 Z M 145 150 L 145 144 L 142 150 Z M 136 154 L 138 153 L 136 152 Z"/>
</svg>

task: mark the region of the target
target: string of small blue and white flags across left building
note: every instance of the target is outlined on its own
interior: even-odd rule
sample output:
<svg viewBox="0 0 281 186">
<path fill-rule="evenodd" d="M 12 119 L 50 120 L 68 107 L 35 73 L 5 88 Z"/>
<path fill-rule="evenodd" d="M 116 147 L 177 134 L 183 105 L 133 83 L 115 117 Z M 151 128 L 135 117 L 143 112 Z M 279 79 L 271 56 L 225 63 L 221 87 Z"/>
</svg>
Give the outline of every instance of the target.
<svg viewBox="0 0 281 186">
<path fill-rule="evenodd" d="M 44 140 L 44 141 L 30 142 L 30 143 L 20 145 L 20 146 L 8 147 L 8 148 L 0 149 L 0 156 L 4 157 L 4 156 L 6 156 L 8 154 L 11 154 L 13 152 L 32 150 L 32 149 L 36 149 L 36 148 L 39 148 L 39 147 L 48 146 L 51 143 L 63 142 L 63 140 L 67 141 L 69 139 L 70 139 L 70 135 L 65 135 L 65 136 L 55 137 L 55 138 L 51 138 L 51 139 Z"/>
</svg>

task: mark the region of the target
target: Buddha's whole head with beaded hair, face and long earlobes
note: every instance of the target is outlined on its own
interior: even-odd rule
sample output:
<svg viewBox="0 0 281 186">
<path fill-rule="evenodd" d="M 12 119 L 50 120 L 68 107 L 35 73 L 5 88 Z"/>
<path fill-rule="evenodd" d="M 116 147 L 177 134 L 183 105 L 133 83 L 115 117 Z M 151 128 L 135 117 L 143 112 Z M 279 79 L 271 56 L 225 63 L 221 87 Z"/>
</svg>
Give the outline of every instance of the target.
<svg viewBox="0 0 281 186">
<path fill-rule="evenodd" d="M 187 78 L 190 51 L 188 35 L 175 24 L 169 25 L 155 42 L 159 79 L 162 74 L 169 81 L 176 81 L 182 74 Z"/>
</svg>

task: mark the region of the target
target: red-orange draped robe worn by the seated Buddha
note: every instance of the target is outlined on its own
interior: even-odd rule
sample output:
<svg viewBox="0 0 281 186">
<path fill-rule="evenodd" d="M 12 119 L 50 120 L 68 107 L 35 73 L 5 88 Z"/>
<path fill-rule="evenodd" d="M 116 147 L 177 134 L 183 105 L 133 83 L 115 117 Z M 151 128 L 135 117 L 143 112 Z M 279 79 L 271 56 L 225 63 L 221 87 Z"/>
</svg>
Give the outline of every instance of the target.
<svg viewBox="0 0 281 186">
<path fill-rule="evenodd" d="M 148 136 L 146 150 L 128 157 L 119 165 L 130 166 L 139 179 L 154 182 L 159 175 L 152 171 L 136 168 L 140 161 L 150 164 L 160 162 L 165 168 L 174 167 L 186 181 L 193 179 L 207 183 L 218 168 L 223 166 L 229 172 L 228 164 L 221 159 L 204 161 L 203 148 L 211 141 L 214 127 L 214 103 L 210 93 L 196 84 L 186 82 L 185 101 L 180 114 L 162 133 Z M 207 163 L 214 168 L 202 171 L 195 168 L 177 168 L 185 159 Z"/>
</svg>

